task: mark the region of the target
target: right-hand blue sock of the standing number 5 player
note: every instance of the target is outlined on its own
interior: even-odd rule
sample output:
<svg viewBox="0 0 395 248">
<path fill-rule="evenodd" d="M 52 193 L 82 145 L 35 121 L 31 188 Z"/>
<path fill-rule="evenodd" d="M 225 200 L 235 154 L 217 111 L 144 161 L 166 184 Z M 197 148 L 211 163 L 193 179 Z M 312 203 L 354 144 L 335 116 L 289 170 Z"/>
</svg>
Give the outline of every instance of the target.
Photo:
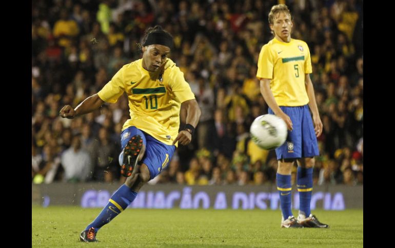
<svg viewBox="0 0 395 248">
<path fill-rule="evenodd" d="M 302 168 L 298 166 L 297 187 L 299 191 L 299 213 L 309 217 L 311 193 L 313 190 L 313 168 Z"/>
</svg>

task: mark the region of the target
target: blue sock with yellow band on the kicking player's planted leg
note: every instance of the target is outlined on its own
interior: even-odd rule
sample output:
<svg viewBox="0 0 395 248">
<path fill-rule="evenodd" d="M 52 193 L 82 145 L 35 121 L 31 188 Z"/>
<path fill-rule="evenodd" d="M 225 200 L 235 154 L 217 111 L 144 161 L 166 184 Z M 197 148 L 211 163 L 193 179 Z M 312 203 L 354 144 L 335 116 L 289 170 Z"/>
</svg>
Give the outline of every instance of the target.
<svg viewBox="0 0 395 248">
<path fill-rule="evenodd" d="M 137 193 L 128 186 L 122 185 L 108 200 L 108 204 L 102 212 L 86 227 L 85 230 L 93 227 L 97 232 L 101 227 L 110 222 L 115 216 L 124 211 L 136 198 Z"/>
</svg>

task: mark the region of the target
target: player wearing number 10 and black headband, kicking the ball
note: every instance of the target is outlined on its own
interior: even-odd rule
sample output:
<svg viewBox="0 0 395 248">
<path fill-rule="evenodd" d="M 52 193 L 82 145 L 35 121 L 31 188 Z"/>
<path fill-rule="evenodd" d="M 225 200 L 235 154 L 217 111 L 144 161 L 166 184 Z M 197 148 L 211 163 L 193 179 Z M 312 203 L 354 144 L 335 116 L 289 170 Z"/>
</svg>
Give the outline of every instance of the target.
<svg viewBox="0 0 395 248">
<path fill-rule="evenodd" d="M 124 65 L 97 94 L 74 109 L 60 111 L 72 119 L 115 103 L 125 92 L 130 119 L 121 132 L 121 174 L 127 177 L 102 212 L 81 233 L 84 242 L 95 242 L 97 231 L 124 211 L 140 188 L 167 166 L 177 143 L 187 145 L 200 118 L 200 108 L 183 73 L 167 58 L 173 37 L 160 26 L 149 28 L 142 42 L 143 58 Z M 180 132 L 180 108 L 187 109 L 186 126 Z"/>
</svg>

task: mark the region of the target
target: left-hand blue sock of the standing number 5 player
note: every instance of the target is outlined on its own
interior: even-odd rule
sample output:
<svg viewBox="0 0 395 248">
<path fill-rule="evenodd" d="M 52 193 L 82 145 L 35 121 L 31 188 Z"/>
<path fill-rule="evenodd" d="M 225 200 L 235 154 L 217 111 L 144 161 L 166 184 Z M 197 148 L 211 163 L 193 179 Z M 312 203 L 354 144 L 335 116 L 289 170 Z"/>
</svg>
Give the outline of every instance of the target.
<svg viewBox="0 0 395 248">
<path fill-rule="evenodd" d="M 280 195 L 281 211 L 284 219 L 292 215 L 291 211 L 291 175 L 282 175 L 277 173 L 277 189 Z"/>
</svg>

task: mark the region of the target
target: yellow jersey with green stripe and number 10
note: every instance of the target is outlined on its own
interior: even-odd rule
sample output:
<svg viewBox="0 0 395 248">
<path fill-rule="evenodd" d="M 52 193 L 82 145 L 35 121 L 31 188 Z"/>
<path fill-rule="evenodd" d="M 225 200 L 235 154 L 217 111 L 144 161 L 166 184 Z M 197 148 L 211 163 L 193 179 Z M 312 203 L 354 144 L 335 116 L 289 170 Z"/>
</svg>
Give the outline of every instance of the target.
<svg viewBox="0 0 395 248">
<path fill-rule="evenodd" d="M 124 65 L 98 96 L 115 103 L 125 92 L 129 100 L 130 119 L 122 130 L 135 126 L 167 145 L 171 145 L 180 127 L 181 103 L 195 99 L 184 74 L 171 59 L 165 70 L 148 72 L 142 59 Z"/>
</svg>

